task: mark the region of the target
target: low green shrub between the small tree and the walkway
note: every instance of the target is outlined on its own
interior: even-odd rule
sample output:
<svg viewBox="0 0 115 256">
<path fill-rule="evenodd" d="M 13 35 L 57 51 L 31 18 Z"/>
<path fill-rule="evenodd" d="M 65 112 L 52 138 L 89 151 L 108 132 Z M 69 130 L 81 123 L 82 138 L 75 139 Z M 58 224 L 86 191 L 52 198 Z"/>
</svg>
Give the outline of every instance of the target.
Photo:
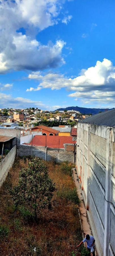
<svg viewBox="0 0 115 256">
<path fill-rule="evenodd" d="M 79 205 L 80 199 L 78 197 L 78 193 L 76 188 L 73 190 L 68 187 L 63 187 L 62 190 L 57 191 L 57 195 L 60 198 L 64 198 L 66 202 L 71 201 L 72 203 Z"/>
</svg>

